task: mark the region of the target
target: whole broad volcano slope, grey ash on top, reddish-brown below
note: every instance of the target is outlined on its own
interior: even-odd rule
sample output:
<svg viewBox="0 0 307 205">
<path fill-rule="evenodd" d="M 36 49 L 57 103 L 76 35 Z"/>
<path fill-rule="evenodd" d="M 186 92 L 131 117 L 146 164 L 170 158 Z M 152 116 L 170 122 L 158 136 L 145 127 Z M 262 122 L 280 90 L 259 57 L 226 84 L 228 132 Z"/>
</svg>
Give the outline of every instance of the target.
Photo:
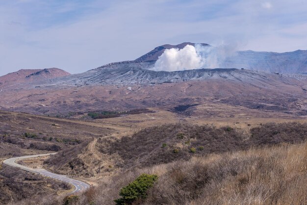
<svg viewBox="0 0 307 205">
<path fill-rule="evenodd" d="M 187 112 L 188 115 L 200 110 L 200 114 L 205 115 L 223 113 L 223 109 L 229 110 L 229 106 L 237 105 L 272 113 L 282 112 L 282 115 L 307 115 L 304 87 L 307 75 L 281 77 L 241 69 L 156 72 L 136 68 L 132 66 L 134 64 L 120 63 L 83 74 L 3 89 L 0 109 L 52 114 L 147 107 L 174 109 L 177 105 L 197 104 L 200 109 L 192 109 Z M 202 107 L 205 104 L 219 104 L 223 109 L 209 112 Z M 244 111 L 248 112 L 252 110 Z"/>
</svg>

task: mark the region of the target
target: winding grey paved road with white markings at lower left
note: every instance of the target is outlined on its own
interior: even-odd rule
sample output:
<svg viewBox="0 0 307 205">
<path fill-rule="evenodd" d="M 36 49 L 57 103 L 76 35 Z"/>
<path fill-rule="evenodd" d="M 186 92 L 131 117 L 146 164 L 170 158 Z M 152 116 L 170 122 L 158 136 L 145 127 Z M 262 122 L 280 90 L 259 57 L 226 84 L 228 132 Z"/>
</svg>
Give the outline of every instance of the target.
<svg viewBox="0 0 307 205">
<path fill-rule="evenodd" d="M 56 153 L 51 153 L 51 154 L 56 154 Z M 45 169 L 32 169 L 32 168 L 23 166 L 21 164 L 15 163 L 16 160 L 39 157 L 39 156 L 48 156 L 48 155 L 51 155 L 51 154 L 36 154 L 36 155 L 29 155 L 29 156 L 19 156 L 19 157 L 5 159 L 3 161 L 3 163 L 10 165 L 10 166 L 13 166 L 13 167 L 18 167 L 18 168 L 20 168 L 22 170 L 26 170 L 28 172 L 34 172 L 34 173 L 37 173 L 37 174 L 40 174 L 40 175 L 44 175 L 46 177 L 50 177 L 50 178 L 53 178 L 53 179 L 57 179 L 57 180 L 65 181 L 67 183 L 71 183 L 75 186 L 75 190 L 72 193 L 84 191 L 85 189 L 89 188 L 88 184 L 86 184 L 82 181 L 76 180 L 76 179 L 68 178 L 65 175 L 54 174 L 54 173 L 49 172 Z"/>
</svg>

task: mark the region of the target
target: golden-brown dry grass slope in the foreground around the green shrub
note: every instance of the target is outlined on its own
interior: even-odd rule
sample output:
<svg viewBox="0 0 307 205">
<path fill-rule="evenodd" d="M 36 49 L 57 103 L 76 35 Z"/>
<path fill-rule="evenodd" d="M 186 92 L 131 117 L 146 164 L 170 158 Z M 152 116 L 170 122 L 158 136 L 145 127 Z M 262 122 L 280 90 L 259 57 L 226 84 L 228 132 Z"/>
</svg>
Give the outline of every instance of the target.
<svg viewBox="0 0 307 205">
<path fill-rule="evenodd" d="M 101 185 L 79 194 L 74 205 L 111 205 L 119 190 L 141 173 L 158 181 L 148 198 L 137 204 L 303 205 L 307 203 L 307 143 L 280 144 L 225 154 L 193 156 L 104 178 Z M 29 205 L 33 201 L 21 202 Z M 37 205 L 63 204 L 63 197 Z"/>
</svg>

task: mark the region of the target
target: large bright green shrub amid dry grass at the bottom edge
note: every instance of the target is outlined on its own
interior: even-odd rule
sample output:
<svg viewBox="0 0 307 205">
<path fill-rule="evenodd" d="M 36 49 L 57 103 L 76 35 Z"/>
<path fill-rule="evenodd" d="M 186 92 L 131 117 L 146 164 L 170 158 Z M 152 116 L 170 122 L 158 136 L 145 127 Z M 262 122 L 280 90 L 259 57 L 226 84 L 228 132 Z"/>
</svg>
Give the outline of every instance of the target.
<svg viewBox="0 0 307 205">
<path fill-rule="evenodd" d="M 142 174 L 134 181 L 121 189 L 121 198 L 114 200 L 116 205 L 131 205 L 138 199 L 146 199 L 147 190 L 153 186 L 158 179 L 156 175 Z"/>
</svg>

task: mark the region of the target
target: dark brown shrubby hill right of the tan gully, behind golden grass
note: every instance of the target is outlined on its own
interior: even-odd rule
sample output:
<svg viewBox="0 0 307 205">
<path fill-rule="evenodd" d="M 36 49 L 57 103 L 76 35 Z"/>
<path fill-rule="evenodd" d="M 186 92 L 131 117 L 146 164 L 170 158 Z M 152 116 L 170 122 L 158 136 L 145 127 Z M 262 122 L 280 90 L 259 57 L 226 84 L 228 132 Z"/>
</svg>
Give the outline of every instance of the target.
<svg viewBox="0 0 307 205">
<path fill-rule="evenodd" d="M 307 124 L 295 122 L 269 123 L 250 130 L 176 124 L 145 128 L 132 137 L 104 139 L 98 142 L 103 154 L 120 156 L 117 167 L 129 169 L 178 159 L 187 160 L 193 155 L 245 150 L 249 147 L 281 142 L 299 143 L 306 138 Z M 179 152 L 174 153 L 175 149 Z"/>
</svg>

